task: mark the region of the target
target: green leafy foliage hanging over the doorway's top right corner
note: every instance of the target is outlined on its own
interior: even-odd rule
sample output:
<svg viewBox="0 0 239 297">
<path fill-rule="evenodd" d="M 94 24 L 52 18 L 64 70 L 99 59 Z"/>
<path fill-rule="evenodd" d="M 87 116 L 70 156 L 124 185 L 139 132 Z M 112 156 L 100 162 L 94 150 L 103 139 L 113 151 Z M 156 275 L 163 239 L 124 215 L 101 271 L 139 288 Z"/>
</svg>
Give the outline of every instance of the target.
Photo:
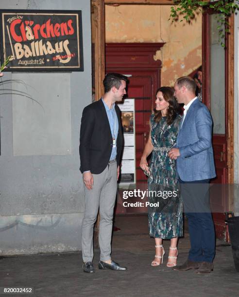
<svg viewBox="0 0 239 297">
<path fill-rule="evenodd" d="M 215 14 L 218 14 L 219 42 L 222 47 L 225 47 L 225 32 L 230 32 L 227 18 L 239 9 L 239 0 L 218 0 L 210 2 L 199 0 L 174 0 L 174 5 L 171 6 L 170 19 L 177 21 L 179 16 L 183 16 L 184 20 L 190 22 L 206 5 L 209 5 L 209 7 L 214 10 Z M 183 20 L 180 21 L 182 22 Z"/>
</svg>

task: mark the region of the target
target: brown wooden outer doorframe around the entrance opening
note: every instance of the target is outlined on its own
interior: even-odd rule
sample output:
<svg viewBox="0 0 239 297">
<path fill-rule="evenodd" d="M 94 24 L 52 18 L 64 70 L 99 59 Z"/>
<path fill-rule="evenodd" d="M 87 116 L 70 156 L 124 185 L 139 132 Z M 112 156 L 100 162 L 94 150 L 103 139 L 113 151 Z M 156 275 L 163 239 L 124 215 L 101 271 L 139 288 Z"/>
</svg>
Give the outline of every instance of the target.
<svg viewBox="0 0 239 297">
<path fill-rule="evenodd" d="M 95 78 L 96 99 L 103 95 L 102 80 L 105 76 L 105 4 L 159 4 L 172 5 L 173 0 L 91 0 L 94 9 Z M 234 182 L 234 15 L 229 17 L 228 36 L 228 183 Z M 229 208 L 233 211 L 233 196 L 229 198 Z"/>
</svg>

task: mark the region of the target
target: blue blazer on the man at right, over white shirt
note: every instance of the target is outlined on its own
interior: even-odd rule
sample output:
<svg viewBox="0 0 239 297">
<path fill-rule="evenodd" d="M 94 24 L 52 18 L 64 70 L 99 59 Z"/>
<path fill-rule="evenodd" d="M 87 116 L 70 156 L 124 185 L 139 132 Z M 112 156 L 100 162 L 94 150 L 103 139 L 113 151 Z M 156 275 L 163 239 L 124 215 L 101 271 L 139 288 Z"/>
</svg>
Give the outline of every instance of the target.
<svg viewBox="0 0 239 297">
<path fill-rule="evenodd" d="M 196 99 L 181 122 L 177 137 L 180 156 L 177 172 L 182 181 L 200 181 L 216 177 L 212 149 L 212 118 L 207 107 Z"/>
</svg>

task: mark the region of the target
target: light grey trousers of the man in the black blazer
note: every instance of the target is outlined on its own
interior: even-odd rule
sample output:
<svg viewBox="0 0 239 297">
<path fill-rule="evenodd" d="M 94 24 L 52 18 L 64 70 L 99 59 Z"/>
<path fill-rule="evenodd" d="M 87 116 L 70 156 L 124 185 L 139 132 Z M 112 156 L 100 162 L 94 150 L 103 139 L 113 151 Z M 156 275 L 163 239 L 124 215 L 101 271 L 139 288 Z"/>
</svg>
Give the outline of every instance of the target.
<svg viewBox="0 0 239 297">
<path fill-rule="evenodd" d="M 100 260 L 111 260 L 112 222 L 117 193 L 117 162 L 111 162 L 100 174 L 93 174 L 92 190 L 85 187 L 85 214 L 82 223 L 82 257 L 84 262 L 93 259 L 94 223 L 100 208 L 99 245 Z"/>
</svg>

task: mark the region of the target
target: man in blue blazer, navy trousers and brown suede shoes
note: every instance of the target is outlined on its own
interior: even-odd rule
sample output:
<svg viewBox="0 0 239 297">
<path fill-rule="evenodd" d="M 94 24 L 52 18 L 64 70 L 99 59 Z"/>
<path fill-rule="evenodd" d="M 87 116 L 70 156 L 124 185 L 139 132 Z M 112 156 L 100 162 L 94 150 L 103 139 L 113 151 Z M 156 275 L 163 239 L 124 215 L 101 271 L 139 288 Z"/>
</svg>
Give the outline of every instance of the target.
<svg viewBox="0 0 239 297">
<path fill-rule="evenodd" d="M 174 270 L 213 270 L 215 231 L 209 205 L 209 180 L 216 176 L 212 149 L 212 118 L 207 107 L 195 96 L 196 83 L 181 77 L 174 84 L 174 96 L 184 103 L 184 116 L 176 148 L 169 157 L 176 160 L 184 209 L 188 218 L 191 248 L 185 264 Z"/>
</svg>

